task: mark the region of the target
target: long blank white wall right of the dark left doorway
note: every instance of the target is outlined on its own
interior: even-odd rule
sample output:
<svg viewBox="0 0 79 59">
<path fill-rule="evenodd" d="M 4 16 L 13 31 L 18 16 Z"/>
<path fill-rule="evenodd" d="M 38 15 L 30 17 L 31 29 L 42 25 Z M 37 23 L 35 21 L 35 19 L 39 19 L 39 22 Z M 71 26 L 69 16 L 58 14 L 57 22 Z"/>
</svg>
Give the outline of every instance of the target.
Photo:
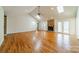
<svg viewBox="0 0 79 59">
<path fill-rule="evenodd" d="M 37 29 L 36 20 L 28 14 L 25 16 L 8 16 L 7 22 L 7 34 Z"/>
</svg>

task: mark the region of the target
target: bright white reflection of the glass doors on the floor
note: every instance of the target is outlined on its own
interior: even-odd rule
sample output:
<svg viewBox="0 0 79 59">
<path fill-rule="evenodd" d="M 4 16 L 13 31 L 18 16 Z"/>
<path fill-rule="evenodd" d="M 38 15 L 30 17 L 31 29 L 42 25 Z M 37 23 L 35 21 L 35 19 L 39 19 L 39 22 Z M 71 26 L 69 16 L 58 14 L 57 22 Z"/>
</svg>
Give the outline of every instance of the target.
<svg viewBox="0 0 79 59">
<path fill-rule="evenodd" d="M 63 47 L 65 49 L 69 48 L 70 47 L 70 36 L 67 34 L 58 34 L 57 44 L 59 47 Z"/>
</svg>

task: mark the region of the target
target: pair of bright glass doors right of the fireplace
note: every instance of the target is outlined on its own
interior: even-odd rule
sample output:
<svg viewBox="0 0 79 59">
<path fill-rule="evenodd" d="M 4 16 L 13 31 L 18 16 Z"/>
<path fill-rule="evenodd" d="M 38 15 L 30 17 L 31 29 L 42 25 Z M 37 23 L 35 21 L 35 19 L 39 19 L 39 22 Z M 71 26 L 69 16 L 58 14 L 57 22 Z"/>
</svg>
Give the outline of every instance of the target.
<svg viewBox="0 0 79 59">
<path fill-rule="evenodd" d="M 69 21 L 58 21 L 57 32 L 69 33 Z"/>
</svg>

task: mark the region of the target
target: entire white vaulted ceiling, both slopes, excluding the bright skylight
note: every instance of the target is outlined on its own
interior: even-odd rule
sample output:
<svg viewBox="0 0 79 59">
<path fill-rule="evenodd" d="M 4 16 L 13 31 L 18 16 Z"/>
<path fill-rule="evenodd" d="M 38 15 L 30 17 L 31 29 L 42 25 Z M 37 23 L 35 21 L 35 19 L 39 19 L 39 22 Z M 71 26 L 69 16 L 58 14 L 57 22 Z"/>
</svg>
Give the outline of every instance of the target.
<svg viewBox="0 0 79 59">
<path fill-rule="evenodd" d="M 51 10 L 51 7 L 53 10 Z M 4 11 L 6 15 L 26 15 L 30 14 L 35 17 L 37 15 L 36 6 L 4 6 Z M 51 18 L 67 18 L 75 17 L 77 12 L 76 6 L 64 6 L 64 12 L 59 14 L 56 6 L 41 6 L 40 13 L 44 19 L 48 20 Z"/>
</svg>

